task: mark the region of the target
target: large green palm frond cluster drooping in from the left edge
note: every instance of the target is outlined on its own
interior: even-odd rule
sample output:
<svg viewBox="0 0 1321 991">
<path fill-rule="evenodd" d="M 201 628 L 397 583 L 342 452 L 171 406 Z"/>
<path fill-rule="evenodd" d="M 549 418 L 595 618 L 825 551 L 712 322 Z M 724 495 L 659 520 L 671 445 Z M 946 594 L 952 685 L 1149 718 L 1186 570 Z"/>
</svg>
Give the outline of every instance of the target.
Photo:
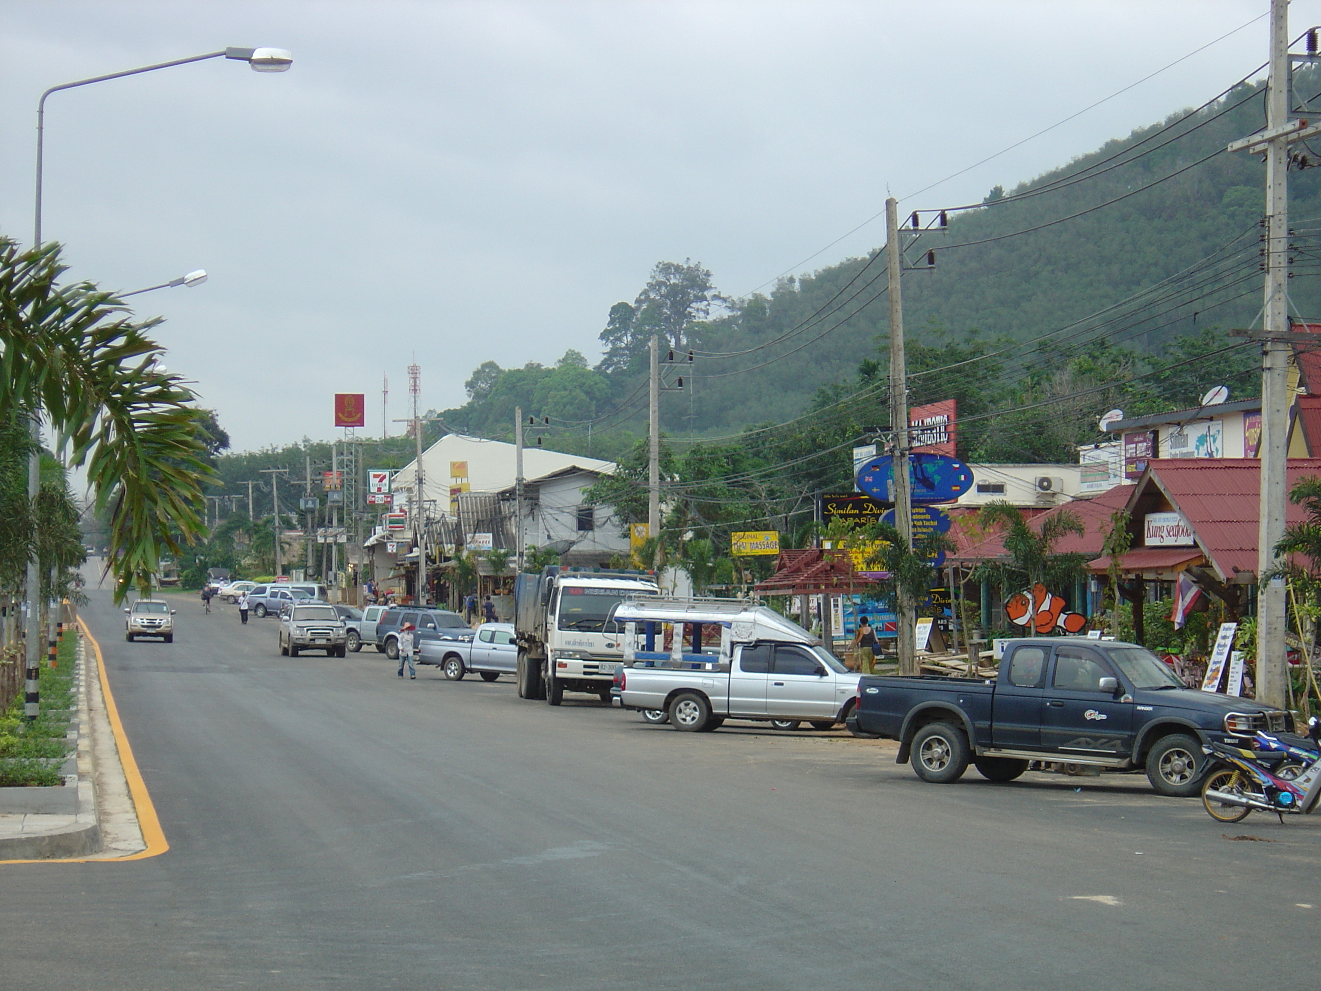
<svg viewBox="0 0 1321 991">
<path fill-rule="evenodd" d="M 34 411 L 71 466 L 85 465 L 98 509 L 110 507 L 116 596 L 149 588 L 161 552 L 205 532 L 205 414 L 162 348 L 114 293 L 61 287 L 59 246 L 20 250 L 0 237 L 0 423 Z"/>
</svg>

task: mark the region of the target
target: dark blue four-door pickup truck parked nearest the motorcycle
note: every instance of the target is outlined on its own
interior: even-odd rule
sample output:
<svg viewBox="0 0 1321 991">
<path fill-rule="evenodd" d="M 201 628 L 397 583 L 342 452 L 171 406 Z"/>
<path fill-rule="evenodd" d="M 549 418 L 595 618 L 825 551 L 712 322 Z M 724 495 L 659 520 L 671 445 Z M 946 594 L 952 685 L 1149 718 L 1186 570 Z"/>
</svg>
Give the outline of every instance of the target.
<svg viewBox="0 0 1321 991">
<path fill-rule="evenodd" d="M 1196 795 L 1202 744 L 1248 745 L 1293 717 L 1251 699 L 1186 688 L 1136 643 L 1012 640 L 996 679 L 864 677 L 849 728 L 900 741 L 923 781 L 958 781 L 968 764 L 1013 781 L 1030 761 L 1085 772 L 1137 772 L 1161 794 Z"/>
</svg>

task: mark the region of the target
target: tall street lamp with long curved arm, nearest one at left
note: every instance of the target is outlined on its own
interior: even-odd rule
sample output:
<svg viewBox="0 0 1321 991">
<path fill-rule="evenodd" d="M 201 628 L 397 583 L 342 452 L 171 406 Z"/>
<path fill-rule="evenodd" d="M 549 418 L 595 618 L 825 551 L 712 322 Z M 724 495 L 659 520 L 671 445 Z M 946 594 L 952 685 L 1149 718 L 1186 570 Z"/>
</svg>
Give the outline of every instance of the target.
<svg viewBox="0 0 1321 991">
<path fill-rule="evenodd" d="M 33 209 L 33 225 L 32 225 L 32 247 L 33 250 L 41 248 L 41 192 L 42 192 L 42 169 L 46 157 L 46 99 L 53 92 L 59 92 L 61 90 L 74 90 L 79 86 L 91 86 L 91 83 L 106 82 L 107 79 L 122 79 L 125 75 L 140 75 L 141 73 L 152 73 L 157 69 L 170 69 L 177 65 L 188 65 L 189 62 L 205 62 L 209 58 L 232 58 L 238 61 L 247 62 L 252 66 L 254 71 L 258 73 L 283 73 L 291 65 L 293 65 L 293 57 L 283 48 L 227 48 L 222 52 L 207 52 L 205 55 L 192 55 L 189 58 L 176 58 L 173 62 L 156 62 L 155 65 L 144 65 L 137 69 L 125 69 L 122 73 L 110 73 L 108 75 L 94 75 L 90 79 L 78 79 L 71 83 L 62 83 L 61 86 L 52 86 L 49 90 L 41 94 L 41 99 L 37 100 L 37 194 L 36 205 Z M 186 276 L 185 276 L 186 277 Z M 29 423 L 29 435 L 32 437 L 32 453 L 28 456 L 28 505 L 36 511 L 37 494 L 41 490 L 41 410 L 33 408 L 32 418 Z M 36 517 L 33 517 L 36 518 Z M 40 715 L 40 669 L 41 663 L 41 562 L 37 560 L 36 555 L 28 560 L 28 588 L 25 593 L 26 606 L 28 606 L 28 621 L 26 621 L 26 645 L 25 645 L 25 673 L 24 673 L 24 716 L 29 720 L 36 719 Z"/>
</svg>

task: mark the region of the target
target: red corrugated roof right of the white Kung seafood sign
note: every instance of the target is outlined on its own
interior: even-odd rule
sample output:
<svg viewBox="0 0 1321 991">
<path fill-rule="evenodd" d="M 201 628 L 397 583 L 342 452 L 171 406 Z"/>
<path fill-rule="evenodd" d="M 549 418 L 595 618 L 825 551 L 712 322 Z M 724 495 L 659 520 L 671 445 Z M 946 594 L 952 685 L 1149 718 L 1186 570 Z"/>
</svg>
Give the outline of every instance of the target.
<svg viewBox="0 0 1321 991">
<path fill-rule="evenodd" d="M 1147 472 L 1137 488 L 1145 490 L 1147 485 L 1156 485 L 1165 493 L 1225 580 L 1256 572 L 1260 461 L 1255 457 L 1162 459 L 1152 461 Z M 1291 457 L 1288 488 L 1304 476 L 1321 476 L 1321 459 Z M 1291 502 L 1284 519 L 1301 523 L 1303 507 Z"/>
</svg>

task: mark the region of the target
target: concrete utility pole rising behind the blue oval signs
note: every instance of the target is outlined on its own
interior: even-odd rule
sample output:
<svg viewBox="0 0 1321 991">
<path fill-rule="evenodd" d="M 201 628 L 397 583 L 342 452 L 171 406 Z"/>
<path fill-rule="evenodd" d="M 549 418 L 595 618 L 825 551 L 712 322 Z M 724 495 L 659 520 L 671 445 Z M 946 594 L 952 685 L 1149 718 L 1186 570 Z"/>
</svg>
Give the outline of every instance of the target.
<svg viewBox="0 0 1321 991">
<path fill-rule="evenodd" d="M 904 362 L 904 305 L 900 295 L 904 252 L 900 246 L 898 201 L 885 201 L 885 272 L 890 296 L 890 432 L 894 436 L 894 529 L 913 547 L 913 486 L 909 478 L 908 371 Z M 898 630 L 896 647 L 900 674 L 917 674 L 917 604 L 904 588 L 896 587 Z M 828 645 L 827 645 L 828 646 Z"/>
</svg>

